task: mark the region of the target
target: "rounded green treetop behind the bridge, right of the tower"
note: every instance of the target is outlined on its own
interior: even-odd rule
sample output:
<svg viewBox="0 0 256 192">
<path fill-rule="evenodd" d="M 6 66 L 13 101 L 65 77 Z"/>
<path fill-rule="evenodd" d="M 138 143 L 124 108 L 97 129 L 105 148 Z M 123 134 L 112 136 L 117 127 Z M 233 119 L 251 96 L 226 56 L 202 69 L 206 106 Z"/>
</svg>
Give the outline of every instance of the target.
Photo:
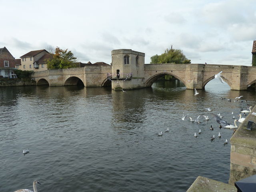
<svg viewBox="0 0 256 192">
<path fill-rule="evenodd" d="M 154 55 L 150 58 L 152 63 L 191 63 L 190 59 L 187 59 L 186 56 L 182 53 L 180 49 L 170 49 L 164 50 L 164 53 L 161 55 Z"/>
</svg>

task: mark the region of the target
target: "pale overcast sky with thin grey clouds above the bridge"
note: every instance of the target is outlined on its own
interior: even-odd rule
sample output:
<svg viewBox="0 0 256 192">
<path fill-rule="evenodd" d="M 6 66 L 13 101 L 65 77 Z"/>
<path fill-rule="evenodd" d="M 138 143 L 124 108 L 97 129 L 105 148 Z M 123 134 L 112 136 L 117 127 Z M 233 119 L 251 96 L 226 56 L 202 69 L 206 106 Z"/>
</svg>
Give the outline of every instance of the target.
<svg viewBox="0 0 256 192">
<path fill-rule="evenodd" d="M 0 48 L 15 58 L 47 46 L 80 62 L 111 62 L 113 49 L 150 57 L 173 45 L 192 63 L 250 66 L 255 0 L 0 0 Z"/>
</svg>

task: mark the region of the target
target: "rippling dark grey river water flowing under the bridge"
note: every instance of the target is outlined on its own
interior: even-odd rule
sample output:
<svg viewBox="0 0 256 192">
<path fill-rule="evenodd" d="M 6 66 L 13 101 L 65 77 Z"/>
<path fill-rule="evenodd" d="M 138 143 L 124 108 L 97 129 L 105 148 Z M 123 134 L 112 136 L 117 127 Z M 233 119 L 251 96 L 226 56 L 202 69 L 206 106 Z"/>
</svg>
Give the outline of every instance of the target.
<svg viewBox="0 0 256 192">
<path fill-rule="evenodd" d="M 196 118 L 210 115 L 204 109 L 210 107 L 234 124 L 231 112 L 237 117 L 240 108 L 254 106 L 255 90 L 233 91 L 214 79 L 198 92 L 178 80 L 126 92 L 0 88 L 0 191 L 32 190 L 36 179 L 39 192 L 182 192 L 199 175 L 227 183 L 230 144 L 224 141 L 233 130 L 213 119 L 183 121 L 182 112 Z M 227 101 L 240 95 L 247 102 Z"/>
</svg>

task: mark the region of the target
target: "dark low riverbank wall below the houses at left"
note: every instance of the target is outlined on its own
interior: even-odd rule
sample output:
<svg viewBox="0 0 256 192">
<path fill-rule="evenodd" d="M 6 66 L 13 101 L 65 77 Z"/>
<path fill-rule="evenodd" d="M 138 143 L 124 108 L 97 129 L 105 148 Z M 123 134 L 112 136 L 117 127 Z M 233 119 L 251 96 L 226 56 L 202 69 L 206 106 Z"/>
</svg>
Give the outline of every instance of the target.
<svg viewBox="0 0 256 192">
<path fill-rule="evenodd" d="M 35 80 L 31 79 L 0 79 L 0 87 L 34 86 Z"/>
</svg>

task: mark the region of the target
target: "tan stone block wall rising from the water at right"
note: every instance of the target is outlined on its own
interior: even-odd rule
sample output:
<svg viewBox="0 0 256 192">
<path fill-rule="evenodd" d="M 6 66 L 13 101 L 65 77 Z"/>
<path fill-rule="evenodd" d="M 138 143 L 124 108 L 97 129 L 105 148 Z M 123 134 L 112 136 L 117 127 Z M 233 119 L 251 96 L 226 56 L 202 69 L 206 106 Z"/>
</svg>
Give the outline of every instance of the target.
<svg viewBox="0 0 256 192">
<path fill-rule="evenodd" d="M 256 112 L 256 106 L 252 109 Z M 229 184 L 256 174 L 256 126 L 247 130 L 248 120 L 256 122 L 251 113 L 236 130 L 230 139 L 230 178 Z"/>
</svg>

